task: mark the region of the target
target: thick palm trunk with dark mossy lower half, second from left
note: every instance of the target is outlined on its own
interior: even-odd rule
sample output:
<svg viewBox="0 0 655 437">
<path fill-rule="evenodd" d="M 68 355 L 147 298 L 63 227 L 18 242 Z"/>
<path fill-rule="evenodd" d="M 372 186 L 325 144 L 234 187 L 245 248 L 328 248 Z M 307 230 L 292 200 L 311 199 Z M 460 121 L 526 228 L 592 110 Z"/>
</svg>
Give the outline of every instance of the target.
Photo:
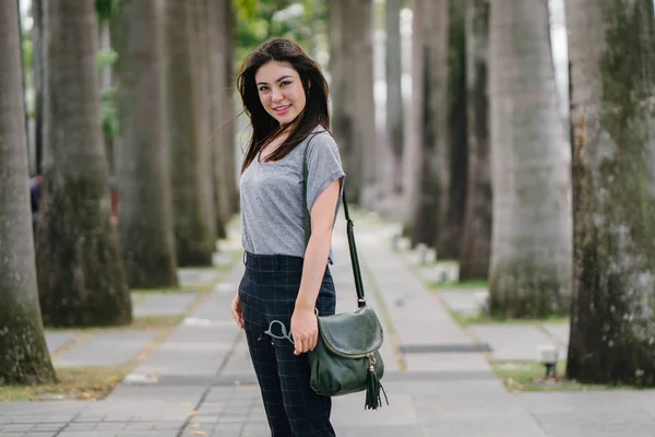
<svg viewBox="0 0 655 437">
<path fill-rule="evenodd" d="M 92 2 L 46 5 L 47 153 L 37 232 L 44 322 L 129 323 L 132 304 L 111 222 Z"/>
</svg>

